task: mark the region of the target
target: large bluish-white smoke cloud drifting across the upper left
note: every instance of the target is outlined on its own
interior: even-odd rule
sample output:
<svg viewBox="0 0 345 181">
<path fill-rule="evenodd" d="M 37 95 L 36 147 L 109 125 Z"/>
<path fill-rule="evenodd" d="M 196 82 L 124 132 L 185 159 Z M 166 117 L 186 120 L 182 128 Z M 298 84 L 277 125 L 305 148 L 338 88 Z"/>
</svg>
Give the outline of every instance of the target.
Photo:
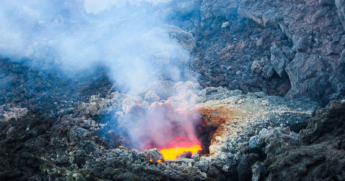
<svg viewBox="0 0 345 181">
<path fill-rule="evenodd" d="M 65 72 L 101 63 L 130 89 L 156 79 L 180 80 L 191 49 L 171 36 L 176 29 L 163 25 L 151 2 L 137 4 L 116 1 L 93 14 L 83 0 L 2 0 L 0 58 L 28 58 L 38 68 L 45 63 Z"/>
</svg>

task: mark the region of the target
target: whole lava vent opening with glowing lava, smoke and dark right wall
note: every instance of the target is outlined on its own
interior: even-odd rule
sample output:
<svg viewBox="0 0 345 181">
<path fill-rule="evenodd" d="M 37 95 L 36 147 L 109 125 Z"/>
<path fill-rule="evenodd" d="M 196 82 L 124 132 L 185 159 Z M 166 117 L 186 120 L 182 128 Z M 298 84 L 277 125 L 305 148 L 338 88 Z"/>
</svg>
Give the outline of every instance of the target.
<svg viewBox="0 0 345 181">
<path fill-rule="evenodd" d="M 124 118 L 130 138 L 128 147 L 145 152 L 152 162 L 209 155 L 210 141 L 223 123 L 210 122 L 205 109 L 175 108 L 171 100 L 153 103 L 146 109 L 138 105 L 134 110 Z M 148 155 L 147 150 L 154 148 L 160 150 L 162 158 Z"/>
</svg>

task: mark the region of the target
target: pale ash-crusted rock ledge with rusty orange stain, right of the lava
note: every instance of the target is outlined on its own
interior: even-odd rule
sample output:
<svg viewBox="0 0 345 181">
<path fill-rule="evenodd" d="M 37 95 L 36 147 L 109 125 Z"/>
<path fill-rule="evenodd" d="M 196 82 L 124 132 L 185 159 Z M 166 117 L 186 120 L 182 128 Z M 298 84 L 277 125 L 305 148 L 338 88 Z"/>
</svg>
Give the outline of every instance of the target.
<svg viewBox="0 0 345 181">
<path fill-rule="evenodd" d="M 210 91 L 212 89 L 214 91 Z M 205 97 L 213 99 L 203 99 L 204 103 L 192 108 L 200 109 L 210 125 L 217 125 L 210 138 L 210 154 L 218 151 L 235 153 L 238 144 L 249 141 L 250 137 L 268 127 L 288 126 L 299 132 L 307 126 L 317 106 L 315 102 L 303 99 L 284 99 L 260 92 L 245 95 L 238 91 L 217 93 L 217 89 L 220 88 L 201 90 L 200 93 L 208 90 Z"/>
</svg>

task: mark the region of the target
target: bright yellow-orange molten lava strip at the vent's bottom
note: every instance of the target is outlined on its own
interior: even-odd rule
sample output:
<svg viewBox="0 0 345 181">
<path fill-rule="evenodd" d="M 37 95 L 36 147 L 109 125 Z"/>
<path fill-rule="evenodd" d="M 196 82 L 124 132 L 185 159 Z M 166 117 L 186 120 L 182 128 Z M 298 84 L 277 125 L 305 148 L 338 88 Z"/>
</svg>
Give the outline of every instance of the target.
<svg viewBox="0 0 345 181">
<path fill-rule="evenodd" d="M 183 154 L 183 152 L 191 151 L 192 153 L 197 153 L 201 149 L 198 144 L 191 145 L 190 147 L 178 147 L 178 148 L 168 148 L 161 149 L 160 152 L 165 160 L 174 160 L 178 154 Z"/>
</svg>

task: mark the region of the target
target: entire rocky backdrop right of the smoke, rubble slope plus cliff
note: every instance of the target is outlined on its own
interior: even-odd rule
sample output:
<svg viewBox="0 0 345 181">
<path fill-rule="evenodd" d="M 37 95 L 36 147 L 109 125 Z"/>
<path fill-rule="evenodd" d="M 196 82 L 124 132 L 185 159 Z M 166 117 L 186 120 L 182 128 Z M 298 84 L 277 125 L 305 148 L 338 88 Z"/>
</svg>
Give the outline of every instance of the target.
<svg viewBox="0 0 345 181">
<path fill-rule="evenodd" d="M 204 0 L 191 20 L 172 22 L 193 32 L 199 48 L 191 66 L 201 86 L 325 105 L 344 97 L 343 7 L 342 1 Z"/>
</svg>

